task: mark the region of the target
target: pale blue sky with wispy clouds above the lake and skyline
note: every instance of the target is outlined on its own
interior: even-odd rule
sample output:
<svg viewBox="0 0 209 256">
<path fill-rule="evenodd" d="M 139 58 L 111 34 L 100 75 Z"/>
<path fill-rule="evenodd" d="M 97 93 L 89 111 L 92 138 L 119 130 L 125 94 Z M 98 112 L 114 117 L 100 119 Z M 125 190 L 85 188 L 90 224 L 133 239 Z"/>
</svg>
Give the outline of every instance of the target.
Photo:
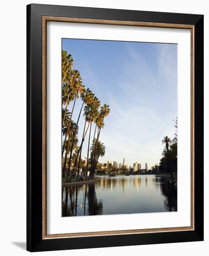
<svg viewBox="0 0 209 256">
<path fill-rule="evenodd" d="M 177 116 L 177 45 L 104 40 L 62 39 L 86 88 L 108 104 L 100 141 L 106 153 L 99 162 L 117 161 L 145 168 L 159 163 L 163 136 L 174 137 Z M 81 101 L 76 102 L 77 120 Z M 72 108 L 72 103 L 69 109 Z M 84 119 L 79 121 L 81 140 Z M 93 137 L 94 125 L 92 126 Z M 87 155 L 87 140 L 82 158 Z"/>
</svg>

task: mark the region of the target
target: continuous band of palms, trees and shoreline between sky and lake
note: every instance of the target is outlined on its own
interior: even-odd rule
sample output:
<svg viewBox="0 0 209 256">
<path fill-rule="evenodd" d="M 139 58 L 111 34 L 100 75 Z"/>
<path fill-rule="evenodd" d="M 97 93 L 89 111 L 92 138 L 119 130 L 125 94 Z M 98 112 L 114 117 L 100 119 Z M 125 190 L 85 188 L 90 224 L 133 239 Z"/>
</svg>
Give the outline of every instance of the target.
<svg viewBox="0 0 209 256">
<path fill-rule="evenodd" d="M 80 98 L 82 106 L 78 116 L 74 116 L 74 108 Z M 105 155 L 105 145 L 99 141 L 104 128 L 104 120 L 110 114 L 109 105 L 101 102 L 89 88 L 83 85 L 78 70 L 73 69 L 73 58 L 67 51 L 62 50 L 62 185 L 79 185 L 96 182 L 95 175 L 156 175 L 168 181 L 177 182 L 177 118 L 174 120 L 176 133 L 171 140 L 165 136 L 162 143 L 165 148 L 159 165 L 151 169 L 134 170 L 127 166 L 119 168 L 111 163 L 98 162 Z M 83 115 L 84 128 L 79 130 L 80 117 Z M 93 129 L 93 131 L 92 131 Z M 82 134 L 78 143 L 78 132 Z M 91 140 L 93 135 L 93 140 Z M 88 149 L 85 159 L 81 154 L 84 143 Z"/>
</svg>

